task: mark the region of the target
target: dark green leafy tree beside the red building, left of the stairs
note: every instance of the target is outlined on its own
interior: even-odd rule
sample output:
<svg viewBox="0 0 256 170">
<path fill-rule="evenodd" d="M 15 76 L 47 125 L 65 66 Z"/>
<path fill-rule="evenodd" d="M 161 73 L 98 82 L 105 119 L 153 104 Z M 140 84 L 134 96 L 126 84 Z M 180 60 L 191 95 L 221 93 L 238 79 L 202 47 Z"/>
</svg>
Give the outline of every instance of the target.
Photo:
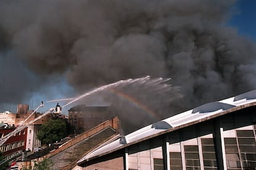
<svg viewBox="0 0 256 170">
<path fill-rule="evenodd" d="M 41 144 L 51 144 L 66 136 L 66 122 L 61 119 L 50 119 L 41 125 L 36 137 L 41 140 Z"/>
</svg>

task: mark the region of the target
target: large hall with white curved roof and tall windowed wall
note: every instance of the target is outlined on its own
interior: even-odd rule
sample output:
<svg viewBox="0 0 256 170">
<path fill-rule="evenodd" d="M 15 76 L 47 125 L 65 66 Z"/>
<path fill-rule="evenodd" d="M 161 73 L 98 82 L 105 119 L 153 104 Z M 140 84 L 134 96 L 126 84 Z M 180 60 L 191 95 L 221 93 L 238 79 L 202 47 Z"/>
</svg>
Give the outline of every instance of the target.
<svg viewBox="0 0 256 170">
<path fill-rule="evenodd" d="M 256 169 L 256 90 L 115 137 L 82 169 Z"/>
</svg>

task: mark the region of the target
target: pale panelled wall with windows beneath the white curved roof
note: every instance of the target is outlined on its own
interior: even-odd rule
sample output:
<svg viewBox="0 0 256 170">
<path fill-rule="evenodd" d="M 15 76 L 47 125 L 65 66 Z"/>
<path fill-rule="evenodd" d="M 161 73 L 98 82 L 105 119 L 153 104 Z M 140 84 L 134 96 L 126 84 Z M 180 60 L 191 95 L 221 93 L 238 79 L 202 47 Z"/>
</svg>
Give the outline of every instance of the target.
<svg viewBox="0 0 256 170">
<path fill-rule="evenodd" d="M 157 138 L 139 142 L 128 147 L 129 169 L 163 170 L 163 156 L 169 157 L 171 170 L 217 170 L 218 161 L 228 170 L 256 169 L 256 124 L 252 124 L 252 116 L 245 118 L 223 118 L 218 131 L 218 125 L 209 121 L 170 132 L 166 139 L 158 137 L 160 142 L 153 141 Z M 163 146 L 165 141 L 169 142 L 168 147 Z M 156 148 L 158 152 L 153 152 Z M 163 153 L 163 148 L 169 155 Z M 224 160 L 218 160 L 219 156 Z"/>
</svg>

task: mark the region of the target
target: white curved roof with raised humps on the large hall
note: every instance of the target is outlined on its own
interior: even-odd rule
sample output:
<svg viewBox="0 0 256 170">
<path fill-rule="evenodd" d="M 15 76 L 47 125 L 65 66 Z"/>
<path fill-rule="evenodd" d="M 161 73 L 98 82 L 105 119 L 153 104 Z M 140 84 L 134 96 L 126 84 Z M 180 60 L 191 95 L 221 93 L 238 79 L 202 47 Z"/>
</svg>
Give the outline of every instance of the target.
<svg viewBox="0 0 256 170">
<path fill-rule="evenodd" d="M 226 110 L 254 102 L 256 105 L 256 90 L 245 92 L 244 94 L 237 95 L 229 99 L 201 105 L 200 107 L 196 107 L 192 110 L 188 110 L 178 115 L 171 116 L 170 118 L 163 119 L 162 121 L 150 124 L 146 127 L 143 127 L 142 129 L 127 134 L 126 136 L 119 137 L 114 141 L 109 140 L 105 144 L 101 145 L 98 148 L 95 148 L 95 150 L 85 155 L 81 160 L 78 161 L 78 163 L 91 160 L 95 156 L 101 156 L 115 150 L 119 150 L 142 140 L 158 136 L 160 134 L 163 134 L 164 132 L 169 132 L 174 127 L 179 128 L 179 126 L 182 126 L 184 124 L 194 122 L 196 123 L 203 118 L 209 118 L 209 116 L 211 116 L 210 118 L 214 118 L 216 116 L 220 116 L 222 113 L 228 113 L 228 111 Z"/>
</svg>

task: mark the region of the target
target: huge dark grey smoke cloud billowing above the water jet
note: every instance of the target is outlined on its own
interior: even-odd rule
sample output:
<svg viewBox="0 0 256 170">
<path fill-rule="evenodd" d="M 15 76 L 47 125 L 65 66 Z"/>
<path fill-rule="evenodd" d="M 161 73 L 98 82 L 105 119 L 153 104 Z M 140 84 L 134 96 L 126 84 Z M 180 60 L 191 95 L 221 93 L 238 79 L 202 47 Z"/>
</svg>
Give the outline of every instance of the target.
<svg viewBox="0 0 256 170">
<path fill-rule="evenodd" d="M 0 1 L 0 81 L 19 82 L 0 93 L 22 100 L 53 75 L 80 92 L 151 75 L 180 87 L 181 111 L 255 89 L 255 44 L 226 26 L 235 2 Z"/>
</svg>

